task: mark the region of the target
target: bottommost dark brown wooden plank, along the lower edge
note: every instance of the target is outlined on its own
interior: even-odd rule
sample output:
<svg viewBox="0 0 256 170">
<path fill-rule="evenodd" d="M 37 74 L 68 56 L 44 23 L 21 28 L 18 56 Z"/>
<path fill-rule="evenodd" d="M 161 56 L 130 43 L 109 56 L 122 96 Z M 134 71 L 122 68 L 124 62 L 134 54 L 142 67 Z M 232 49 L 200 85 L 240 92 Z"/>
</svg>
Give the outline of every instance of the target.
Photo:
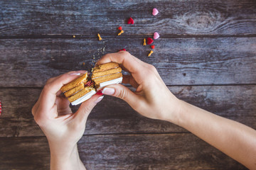
<svg viewBox="0 0 256 170">
<path fill-rule="evenodd" d="M 46 137 L 0 140 L 0 169 L 49 169 Z M 78 142 L 90 169 L 246 169 L 191 134 L 92 135 Z"/>
</svg>

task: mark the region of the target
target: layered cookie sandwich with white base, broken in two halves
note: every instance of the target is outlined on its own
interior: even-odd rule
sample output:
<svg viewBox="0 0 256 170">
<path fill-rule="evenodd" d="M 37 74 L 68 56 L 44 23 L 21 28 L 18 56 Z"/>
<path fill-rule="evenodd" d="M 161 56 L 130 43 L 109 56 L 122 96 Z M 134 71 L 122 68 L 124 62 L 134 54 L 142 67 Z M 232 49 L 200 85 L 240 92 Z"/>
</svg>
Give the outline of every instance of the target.
<svg viewBox="0 0 256 170">
<path fill-rule="evenodd" d="M 87 73 L 65 84 L 60 91 L 74 106 L 87 101 L 102 87 L 122 83 L 122 68 L 116 62 L 101 64 L 92 69 L 92 77 Z"/>
</svg>

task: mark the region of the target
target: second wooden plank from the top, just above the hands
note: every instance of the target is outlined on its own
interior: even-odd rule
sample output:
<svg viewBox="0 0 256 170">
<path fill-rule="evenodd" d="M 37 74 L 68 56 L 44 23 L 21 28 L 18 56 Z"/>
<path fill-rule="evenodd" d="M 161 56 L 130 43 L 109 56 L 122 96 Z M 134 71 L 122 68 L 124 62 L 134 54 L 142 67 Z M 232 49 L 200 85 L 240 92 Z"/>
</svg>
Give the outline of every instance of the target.
<svg viewBox="0 0 256 170">
<path fill-rule="evenodd" d="M 167 85 L 256 84 L 256 38 L 160 38 L 154 45 L 147 57 L 140 38 L 0 40 L 0 87 L 42 87 L 122 48 L 153 64 Z"/>
</svg>

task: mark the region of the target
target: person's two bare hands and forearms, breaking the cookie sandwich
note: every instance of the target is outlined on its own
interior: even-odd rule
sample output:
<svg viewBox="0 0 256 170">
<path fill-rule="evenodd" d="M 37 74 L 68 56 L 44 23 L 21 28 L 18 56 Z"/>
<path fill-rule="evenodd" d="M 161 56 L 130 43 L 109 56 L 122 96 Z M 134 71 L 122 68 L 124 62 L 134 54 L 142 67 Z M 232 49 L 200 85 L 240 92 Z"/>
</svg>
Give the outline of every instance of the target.
<svg viewBox="0 0 256 170">
<path fill-rule="evenodd" d="M 97 64 L 107 62 L 117 62 L 129 72 L 130 75 L 123 76 L 122 83 L 131 84 L 136 91 L 114 84 L 105 87 L 103 94 L 122 98 L 147 118 L 166 120 L 186 128 L 247 168 L 256 169 L 255 130 L 179 100 L 171 94 L 155 67 L 129 52 L 107 54 Z M 85 169 L 79 158 L 77 142 L 85 130 L 87 116 L 102 98 L 92 96 L 72 113 L 68 100 L 59 96 L 60 87 L 77 78 L 80 72 L 49 79 L 32 109 L 36 123 L 49 142 L 51 169 Z"/>
</svg>

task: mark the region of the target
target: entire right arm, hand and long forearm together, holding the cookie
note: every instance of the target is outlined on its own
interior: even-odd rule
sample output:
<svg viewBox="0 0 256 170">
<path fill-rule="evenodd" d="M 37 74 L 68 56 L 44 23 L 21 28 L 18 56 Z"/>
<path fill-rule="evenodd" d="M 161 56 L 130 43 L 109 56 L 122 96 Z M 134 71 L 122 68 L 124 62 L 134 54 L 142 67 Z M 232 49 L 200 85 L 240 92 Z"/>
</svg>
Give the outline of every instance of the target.
<svg viewBox="0 0 256 170">
<path fill-rule="evenodd" d="M 124 75 L 123 83 L 131 84 L 136 91 L 115 84 L 103 89 L 103 94 L 122 98 L 147 118 L 179 125 L 248 169 L 256 169 L 256 130 L 179 100 L 171 94 L 155 67 L 129 52 L 107 54 L 97 64 L 107 62 L 117 62 L 129 72 L 131 75 Z"/>
</svg>

